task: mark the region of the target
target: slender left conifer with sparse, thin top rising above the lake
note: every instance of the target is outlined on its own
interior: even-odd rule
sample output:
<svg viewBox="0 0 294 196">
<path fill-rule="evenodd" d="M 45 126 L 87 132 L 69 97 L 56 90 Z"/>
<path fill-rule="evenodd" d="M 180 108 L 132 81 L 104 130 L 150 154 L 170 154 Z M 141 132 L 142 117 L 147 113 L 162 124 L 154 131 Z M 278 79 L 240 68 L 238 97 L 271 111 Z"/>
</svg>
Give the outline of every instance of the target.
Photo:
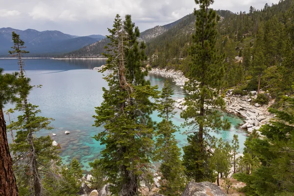
<svg viewBox="0 0 294 196">
<path fill-rule="evenodd" d="M 51 177 L 55 178 L 55 168 L 52 165 L 60 164 L 59 147 L 52 146 L 50 136 L 33 137 L 33 134 L 40 130 L 50 130 L 49 123 L 52 119 L 40 117 L 38 106 L 28 102 L 27 97 L 32 90 L 29 84 L 30 79 L 25 77 L 23 54 L 28 53 L 24 50 L 24 42 L 19 35 L 12 32 L 14 46 L 9 51 L 13 56 L 18 57 L 20 66 L 20 75 L 17 84 L 20 86 L 18 98 L 16 99 L 15 110 L 21 112 L 18 121 L 11 122 L 9 128 L 17 130 L 15 143 L 11 145 L 14 154 L 15 173 L 17 183 L 20 185 L 20 192 L 30 193 L 31 195 L 42 195 L 42 180 L 45 180 L 41 174 L 44 171 L 52 173 Z"/>
</svg>

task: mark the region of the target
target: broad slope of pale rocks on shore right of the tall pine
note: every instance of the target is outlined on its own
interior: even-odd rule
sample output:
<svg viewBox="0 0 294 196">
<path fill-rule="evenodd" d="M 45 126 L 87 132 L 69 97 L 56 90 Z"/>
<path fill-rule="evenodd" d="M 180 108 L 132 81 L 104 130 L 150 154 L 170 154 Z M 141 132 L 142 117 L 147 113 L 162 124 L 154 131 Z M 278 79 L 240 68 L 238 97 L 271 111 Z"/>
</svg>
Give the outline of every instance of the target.
<svg viewBox="0 0 294 196">
<path fill-rule="evenodd" d="M 247 128 L 249 133 L 253 130 L 258 130 L 261 125 L 270 122 L 273 116 L 268 112 L 268 105 L 259 105 L 258 103 L 251 104 L 251 101 L 257 97 L 256 91 L 249 92 L 249 95 L 232 95 L 233 89 L 228 90 L 226 97 L 224 98 L 226 102 L 226 110 L 228 113 L 242 116 L 246 118 L 245 124 L 242 128 Z M 260 132 L 257 131 L 259 134 Z M 261 135 L 261 134 L 260 134 Z"/>
</svg>

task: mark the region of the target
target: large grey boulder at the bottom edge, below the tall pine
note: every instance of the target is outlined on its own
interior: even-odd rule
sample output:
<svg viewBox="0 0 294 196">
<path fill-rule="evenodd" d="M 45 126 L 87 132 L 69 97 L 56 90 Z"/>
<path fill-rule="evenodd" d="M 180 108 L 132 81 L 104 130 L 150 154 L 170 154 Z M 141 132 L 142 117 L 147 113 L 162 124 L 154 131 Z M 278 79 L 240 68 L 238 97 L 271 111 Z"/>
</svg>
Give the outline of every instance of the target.
<svg viewBox="0 0 294 196">
<path fill-rule="evenodd" d="M 221 189 L 211 182 L 189 182 L 182 196 L 226 196 Z"/>
</svg>

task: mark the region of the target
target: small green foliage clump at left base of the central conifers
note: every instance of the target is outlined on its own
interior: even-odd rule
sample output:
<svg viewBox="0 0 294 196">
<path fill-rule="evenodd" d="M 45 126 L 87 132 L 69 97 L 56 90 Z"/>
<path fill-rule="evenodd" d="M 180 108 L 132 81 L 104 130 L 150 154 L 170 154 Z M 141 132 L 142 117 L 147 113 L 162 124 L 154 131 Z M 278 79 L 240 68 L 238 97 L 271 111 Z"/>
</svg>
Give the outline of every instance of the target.
<svg viewBox="0 0 294 196">
<path fill-rule="evenodd" d="M 92 178 L 91 178 L 91 187 L 96 190 L 100 190 L 106 182 L 106 178 L 103 168 L 101 167 L 100 161 L 95 159 L 94 162 L 89 162 L 89 166 L 92 168 Z"/>
</svg>

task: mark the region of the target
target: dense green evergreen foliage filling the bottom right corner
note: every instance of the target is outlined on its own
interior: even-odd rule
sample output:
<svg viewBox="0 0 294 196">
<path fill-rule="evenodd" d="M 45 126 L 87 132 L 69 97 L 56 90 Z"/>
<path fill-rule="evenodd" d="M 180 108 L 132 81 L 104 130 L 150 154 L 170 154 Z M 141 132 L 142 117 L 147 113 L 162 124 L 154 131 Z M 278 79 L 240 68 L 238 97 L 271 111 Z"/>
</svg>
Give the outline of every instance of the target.
<svg viewBox="0 0 294 196">
<path fill-rule="evenodd" d="M 244 162 L 251 166 L 247 174 L 236 174 L 246 183 L 246 195 L 293 195 L 294 194 L 294 98 L 283 97 L 280 108 L 270 108 L 276 120 L 263 125 L 263 140 L 251 136 L 245 142 Z M 254 161 L 254 159 L 257 159 Z M 253 162 L 252 162 L 253 160 Z"/>
</svg>

